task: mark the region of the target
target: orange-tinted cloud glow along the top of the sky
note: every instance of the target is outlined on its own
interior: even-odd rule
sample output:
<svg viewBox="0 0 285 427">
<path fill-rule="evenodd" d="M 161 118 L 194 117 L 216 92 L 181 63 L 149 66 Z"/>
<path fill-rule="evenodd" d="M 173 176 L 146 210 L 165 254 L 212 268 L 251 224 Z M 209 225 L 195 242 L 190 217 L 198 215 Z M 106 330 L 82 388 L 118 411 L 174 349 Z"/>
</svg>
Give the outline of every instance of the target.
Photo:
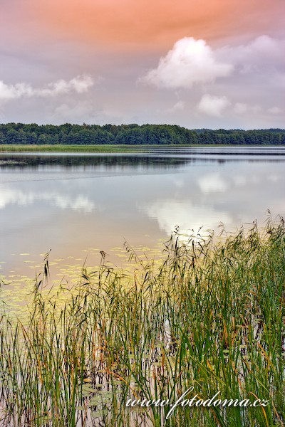
<svg viewBox="0 0 285 427">
<path fill-rule="evenodd" d="M 169 47 L 184 36 L 207 40 L 270 33 L 284 0 L 30 0 L 58 36 L 105 47 Z"/>
</svg>

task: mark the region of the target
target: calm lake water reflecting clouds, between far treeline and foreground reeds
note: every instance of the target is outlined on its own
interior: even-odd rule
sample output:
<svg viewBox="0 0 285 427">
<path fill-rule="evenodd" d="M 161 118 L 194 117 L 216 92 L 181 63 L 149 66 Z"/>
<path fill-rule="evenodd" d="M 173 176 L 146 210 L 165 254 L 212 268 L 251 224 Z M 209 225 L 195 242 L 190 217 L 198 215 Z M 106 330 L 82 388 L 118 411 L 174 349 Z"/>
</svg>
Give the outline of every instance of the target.
<svg viewBox="0 0 285 427">
<path fill-rule="evenodd" d="M 123 243 L 152 257 L 182 233 L 234 231 L 285 214 L 285 147 L 148 149 L 134 154 L 0 154 L 1 270 L 34 277 L 43 254 L 70 266 L 120 265 Z"/>
</svg>

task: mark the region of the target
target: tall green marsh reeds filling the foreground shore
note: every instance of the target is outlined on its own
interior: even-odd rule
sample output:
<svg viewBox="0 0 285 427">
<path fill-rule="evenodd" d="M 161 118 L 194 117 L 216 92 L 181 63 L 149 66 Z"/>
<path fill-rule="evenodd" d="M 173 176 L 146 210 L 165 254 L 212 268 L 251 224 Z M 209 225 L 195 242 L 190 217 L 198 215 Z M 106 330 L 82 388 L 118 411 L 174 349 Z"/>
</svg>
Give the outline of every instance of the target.
<svg viewBox="0 0 285 427">
<path fill-rule="evenodd" d="M 284 426 L 284 238 L 282 218 L 218 244 L 177 229 L 158 268 L 127 245 L 134 273 L 102 258 L 49 297 L 46 257 L 26 322 L 1 309 L 1 426 Z M 125 406 L 191 386 L 269 405 Z"/>
</svg>

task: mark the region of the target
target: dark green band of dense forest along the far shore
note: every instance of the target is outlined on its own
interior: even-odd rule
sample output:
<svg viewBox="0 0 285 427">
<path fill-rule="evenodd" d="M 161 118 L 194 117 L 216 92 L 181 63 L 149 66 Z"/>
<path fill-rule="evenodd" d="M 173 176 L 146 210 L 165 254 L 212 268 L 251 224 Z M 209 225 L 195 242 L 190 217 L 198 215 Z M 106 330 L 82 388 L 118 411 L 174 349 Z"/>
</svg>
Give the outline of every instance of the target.
<svg viewBox="0 0 285 427">
<path fill-rule="evenodd" d="M 177 125 L 0 125 L 0 144 L 285 144 L 285 130 L 189 130 Z"/>
</svg>

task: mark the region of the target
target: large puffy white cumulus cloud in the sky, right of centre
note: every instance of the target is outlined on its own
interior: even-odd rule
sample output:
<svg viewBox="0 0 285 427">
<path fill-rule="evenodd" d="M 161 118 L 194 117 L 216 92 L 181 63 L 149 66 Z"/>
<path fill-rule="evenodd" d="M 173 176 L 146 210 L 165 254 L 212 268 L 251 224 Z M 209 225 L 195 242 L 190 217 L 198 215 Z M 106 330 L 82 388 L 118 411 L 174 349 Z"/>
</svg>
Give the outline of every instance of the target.
<svg viewBox="0 0 285 427">
<path fill-rule="evenodd" d="M 177 41 L 157 68 L 140 79 L 161 88 L 191 88 L 194 83 L 208 83 L 226 77 L 233 70 L 229 63 L 219 61 L 215 51 L 204 40 L 185 37 Z"/>
</svg>

